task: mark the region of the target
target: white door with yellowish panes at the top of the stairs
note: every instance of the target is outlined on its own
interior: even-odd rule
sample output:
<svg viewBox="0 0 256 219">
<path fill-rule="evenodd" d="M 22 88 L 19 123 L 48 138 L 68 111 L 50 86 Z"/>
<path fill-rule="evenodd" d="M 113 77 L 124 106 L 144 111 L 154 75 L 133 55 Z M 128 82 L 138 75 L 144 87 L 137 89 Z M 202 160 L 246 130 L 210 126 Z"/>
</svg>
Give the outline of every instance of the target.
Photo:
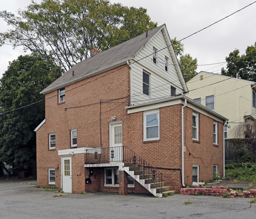
<svg viewBox="0 0 256 219">
<path fill-rule="evenodd" d="M 122 153 L 122 123 L 112 123 L 110 124 L 110 136 L 109 136 L 109 159 L 110 162 L 120 162 L 123 161 Z"/>
</svg>

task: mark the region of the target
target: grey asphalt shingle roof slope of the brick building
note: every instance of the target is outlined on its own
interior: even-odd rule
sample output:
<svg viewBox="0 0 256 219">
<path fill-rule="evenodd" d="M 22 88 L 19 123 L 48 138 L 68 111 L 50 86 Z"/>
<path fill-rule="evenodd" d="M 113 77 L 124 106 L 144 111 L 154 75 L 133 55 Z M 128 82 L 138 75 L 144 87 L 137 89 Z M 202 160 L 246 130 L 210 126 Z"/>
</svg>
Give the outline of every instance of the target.
<svg viewBox="0 0 256 219">
<path fill-rule="evenodd" d="M 140 50 L 140 48 L 143 47 L 148 42 L 148 40 L 150 40 L 150 38 L 158 32 L 158 30 L 162 29 L 164 25 L 165 24 L 148 31 L 147 38 L 146 33 L 143 33 L 124 43 L 121 43 L 99 54 L 96 54 L 91 58 L 87 58 L 83 61 L 78 62 L 65 74 L 60 76 L 57 80 L 55 80 L 52 84 L 45 88 L 41 93 L 45 94 L 51 92 L 54 88 L 57 89 L 60 85 L 65 86 L 65 84 L 71 81 L 75 81 L 76 79 L 81 78 L 82 76 L 87 75 L 91 72 L 107 68 L 108 66 L 119 63 L 123 60 L 128 60 L 130 57 L 133 57 Z M 72 77 L 73 71 L 74 76 Z"/>
</svg>

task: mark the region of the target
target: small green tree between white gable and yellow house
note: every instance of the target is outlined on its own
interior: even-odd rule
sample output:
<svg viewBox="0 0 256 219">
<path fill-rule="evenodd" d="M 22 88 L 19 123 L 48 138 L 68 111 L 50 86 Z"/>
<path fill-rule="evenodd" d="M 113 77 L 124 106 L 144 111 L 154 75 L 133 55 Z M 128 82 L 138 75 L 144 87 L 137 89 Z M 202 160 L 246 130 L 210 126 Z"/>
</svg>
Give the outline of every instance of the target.
<svg viewBox="0 0 256 219">
<path fill-rule="evenodd" d="M 175 54 L 178 58 L 178 61 L 180 63 L 180 69 L 183 74 L 183 77 L 185 79 L 185 82 L 189 81 L 191 78 L 193 78 L 197 72 L 197 58 L 192 58 L 190 54 L 183 54 L 184 52 L 184 44 L 181 42 L 178 42 L 176 37 L 174 39 L 171 39 L 172 46 L 175 51 Z"/>
</svg>

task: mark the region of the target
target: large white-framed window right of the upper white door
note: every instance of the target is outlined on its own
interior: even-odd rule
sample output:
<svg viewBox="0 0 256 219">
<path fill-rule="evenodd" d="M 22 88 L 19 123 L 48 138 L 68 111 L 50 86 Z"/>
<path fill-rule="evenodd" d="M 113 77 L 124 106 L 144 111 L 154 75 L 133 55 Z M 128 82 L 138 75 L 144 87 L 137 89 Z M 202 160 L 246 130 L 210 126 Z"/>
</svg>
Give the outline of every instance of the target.
<svg viewBox="0 0 256 219">
<path fill-rule="evenodd" d="M 159 110 L 144 112 L 144 141 L 159 139 Z"/>
</svg>

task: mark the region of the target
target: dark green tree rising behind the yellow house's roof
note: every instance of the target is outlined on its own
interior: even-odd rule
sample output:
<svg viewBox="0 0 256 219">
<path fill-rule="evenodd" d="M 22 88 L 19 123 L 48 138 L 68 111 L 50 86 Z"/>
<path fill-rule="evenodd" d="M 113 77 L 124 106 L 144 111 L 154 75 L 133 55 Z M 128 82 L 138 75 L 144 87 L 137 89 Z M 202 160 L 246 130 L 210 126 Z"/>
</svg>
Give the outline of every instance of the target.
<svg viewBox="0 0 256 219">
<path fill-rule="evenodd" d="M 245 54 L 239 55 L 239 50 L 235 49 L 226 57 L 227 70 L 221 69 L 222 75 L 242 78 L 245 80 L 256 81 L 256 42 L 248 46 Z"/>
</svg>

